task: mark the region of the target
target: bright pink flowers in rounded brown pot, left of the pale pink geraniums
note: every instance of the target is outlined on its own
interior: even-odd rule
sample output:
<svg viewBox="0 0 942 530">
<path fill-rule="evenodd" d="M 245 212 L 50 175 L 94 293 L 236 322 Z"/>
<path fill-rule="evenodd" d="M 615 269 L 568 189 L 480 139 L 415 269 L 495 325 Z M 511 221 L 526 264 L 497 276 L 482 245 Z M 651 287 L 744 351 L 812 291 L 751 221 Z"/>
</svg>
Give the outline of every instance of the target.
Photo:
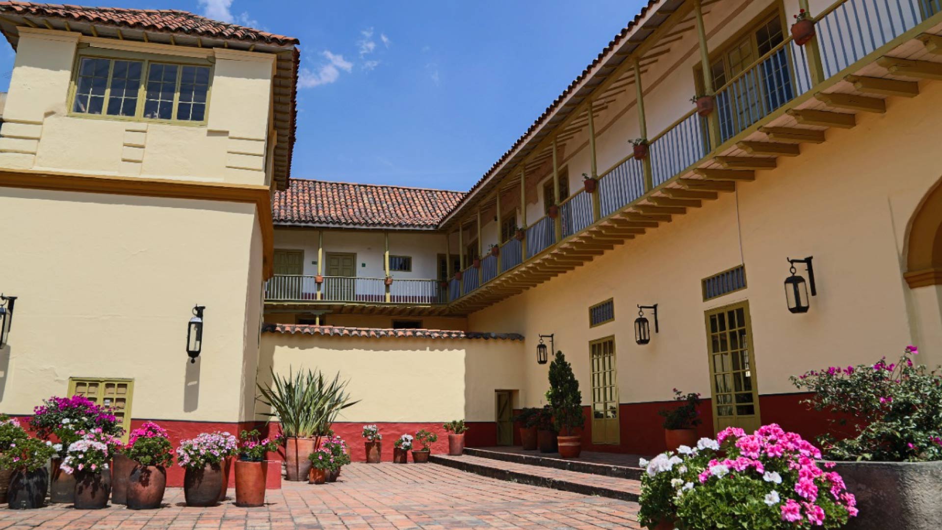
<svg viewBox="0 0 942 530">
<path fill-rule="evenodd" d="M 167 488 L 167 466 L 173 463 L 170 435 L 154 422 L 131 431 L 124 454 L 137 462 L 127 479 L 127 507 L 159 508 Z"/>
</svg>

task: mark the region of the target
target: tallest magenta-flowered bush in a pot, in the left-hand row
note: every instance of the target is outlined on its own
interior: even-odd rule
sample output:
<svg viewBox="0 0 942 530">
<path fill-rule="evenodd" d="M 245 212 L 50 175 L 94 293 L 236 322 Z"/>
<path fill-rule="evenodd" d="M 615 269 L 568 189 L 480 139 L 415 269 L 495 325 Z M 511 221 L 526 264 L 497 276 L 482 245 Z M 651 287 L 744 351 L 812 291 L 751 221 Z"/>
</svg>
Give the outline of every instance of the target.
<svg viewBox="0 0 942 530">
<path fill-rule="evenodd" d="M 49 500 L 53 503 L 73 503 L 75 496 L 75 476 L 62 472 L 60 465 L 69 446 L 82 435 L 79 431 L 93 432 L 101 429 L 103 434 L 120 436 L 122 428 L 118 419 L 105 406 L 98 406 L 83 396 L 62 398 L 53 396 L 43 400 L 41 406 L 33 409 L 29 424 L 41 439 L 54 440 L 58 443 L 57 455 L 52 459 L 52 485 Z"/>
</svg>

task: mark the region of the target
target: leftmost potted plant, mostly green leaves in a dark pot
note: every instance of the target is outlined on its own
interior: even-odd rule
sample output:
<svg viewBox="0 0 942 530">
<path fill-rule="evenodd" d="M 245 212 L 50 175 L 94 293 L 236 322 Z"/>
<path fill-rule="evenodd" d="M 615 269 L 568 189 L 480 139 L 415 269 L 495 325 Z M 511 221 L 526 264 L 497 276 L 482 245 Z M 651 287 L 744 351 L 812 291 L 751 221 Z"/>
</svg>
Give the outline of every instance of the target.
<svg viewBox="0 0 942 530">
<path fill-rule="evenodd" d="M 56 454 L 52 442 L 30 438 L 16 420 L 0 424 L 0 468 L 10 472 L 10 509 L 41 508 L 49 489 L 46 464 Z"/>
</svg>

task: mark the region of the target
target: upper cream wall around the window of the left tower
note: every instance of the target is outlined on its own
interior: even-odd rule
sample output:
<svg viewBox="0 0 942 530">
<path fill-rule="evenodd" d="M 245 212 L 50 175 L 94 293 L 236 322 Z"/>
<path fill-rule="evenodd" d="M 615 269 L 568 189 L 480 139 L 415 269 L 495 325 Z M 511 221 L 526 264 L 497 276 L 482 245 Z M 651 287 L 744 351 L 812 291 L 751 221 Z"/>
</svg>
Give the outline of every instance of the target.
<svg viewBox="0 0 942 530">
<path fill-rule="evenodd" d="M 81 37 L 20 28 L 10 78 L 0 167 L 267 184 L 266 153 L 274 56 L 227 49 Z M 213 78 L 203 125 L 69 115 L 78 47 L 107 55 L 204 58 Z"/>
</svg>

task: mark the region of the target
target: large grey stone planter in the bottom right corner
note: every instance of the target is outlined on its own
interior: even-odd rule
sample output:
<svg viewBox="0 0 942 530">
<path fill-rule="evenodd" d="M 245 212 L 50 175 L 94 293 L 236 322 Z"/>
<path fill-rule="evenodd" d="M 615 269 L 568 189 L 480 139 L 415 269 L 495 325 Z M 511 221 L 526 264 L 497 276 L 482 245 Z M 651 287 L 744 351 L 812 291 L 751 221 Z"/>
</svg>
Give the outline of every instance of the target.
<svg viewBox="0 0 942 530">
<path fill-rule="evenodd" d="M 942 462 L 836 462 L 857 498 L 845 530 L 936 530 L 942 521 Z"/>
</svg>

